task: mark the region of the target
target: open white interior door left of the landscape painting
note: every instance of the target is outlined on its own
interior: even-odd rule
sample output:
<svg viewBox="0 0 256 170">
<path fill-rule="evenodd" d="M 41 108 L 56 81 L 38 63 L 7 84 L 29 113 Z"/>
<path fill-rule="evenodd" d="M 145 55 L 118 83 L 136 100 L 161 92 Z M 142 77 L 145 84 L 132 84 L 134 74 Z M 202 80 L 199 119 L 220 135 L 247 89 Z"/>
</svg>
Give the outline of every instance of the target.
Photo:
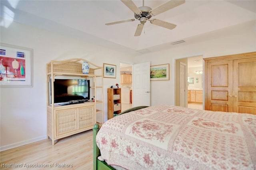
<svg viewBox="0 0 256 170">
<path fill-rule="evenodd" d="M 134 64 L 132 75 L 132 105 L 150 106 L 150 62 Z"/>
</svg>

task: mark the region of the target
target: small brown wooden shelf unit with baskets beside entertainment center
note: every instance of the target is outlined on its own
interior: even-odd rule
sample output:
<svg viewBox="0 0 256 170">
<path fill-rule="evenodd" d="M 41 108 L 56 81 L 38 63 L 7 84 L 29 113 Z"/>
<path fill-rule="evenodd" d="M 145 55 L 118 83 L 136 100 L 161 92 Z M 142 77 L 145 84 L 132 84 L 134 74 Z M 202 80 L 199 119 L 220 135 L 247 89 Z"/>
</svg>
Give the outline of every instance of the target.
<svg viewBox="0 0 256 170">
<path fill-rule="evenodd" d="M 121 113 L 121 88 L 108 88 L 108 119 Z"/>
</svg>

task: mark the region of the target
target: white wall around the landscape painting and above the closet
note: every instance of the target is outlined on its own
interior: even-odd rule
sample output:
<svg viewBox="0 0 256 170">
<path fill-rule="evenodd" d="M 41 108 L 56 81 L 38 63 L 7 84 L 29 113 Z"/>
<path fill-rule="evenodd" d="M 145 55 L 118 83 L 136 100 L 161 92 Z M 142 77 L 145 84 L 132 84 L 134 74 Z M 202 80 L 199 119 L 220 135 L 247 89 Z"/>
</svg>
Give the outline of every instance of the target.
<svg viewBox="0 0 256 170">
<path fill-rule="evenodd" d="M 253 31 L 241 31 L 209 41 L 176 47 L 165 51 L 147 53 L 136 57 L 135 63 L 150 61 L 150 65 L 170 63 L 170 80 L 151 81 L 151 105 L 175 105 L 175 59 L 203 55 L 217 57 L 256 51 L 256 27 Z"/>
</svg>

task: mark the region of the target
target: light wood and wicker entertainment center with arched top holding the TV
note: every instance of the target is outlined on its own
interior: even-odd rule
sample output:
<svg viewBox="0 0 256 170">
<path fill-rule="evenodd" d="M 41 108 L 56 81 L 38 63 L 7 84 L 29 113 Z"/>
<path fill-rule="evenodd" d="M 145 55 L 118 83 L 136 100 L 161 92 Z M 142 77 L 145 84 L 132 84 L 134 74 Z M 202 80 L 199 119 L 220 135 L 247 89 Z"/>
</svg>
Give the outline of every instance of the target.
<svg viewBox="0 0 256 170">
<path fill-rule="evenodd" d="M 82 63 L 90 64 L 89 74 L 82 73 Z M 90 130 L 96 122 L 103 123 L 103 79 L 101 66 L 84 59 L 50 61 L 46 65 L 47 75 L 47 135 L 52 145 L 57 139 Z M 81 77 L 91 81 L 90 98 L 94 102 L 82 102 L 60 106 L 54 104 L 54 80 L 57 76 Z"/>
</svg>

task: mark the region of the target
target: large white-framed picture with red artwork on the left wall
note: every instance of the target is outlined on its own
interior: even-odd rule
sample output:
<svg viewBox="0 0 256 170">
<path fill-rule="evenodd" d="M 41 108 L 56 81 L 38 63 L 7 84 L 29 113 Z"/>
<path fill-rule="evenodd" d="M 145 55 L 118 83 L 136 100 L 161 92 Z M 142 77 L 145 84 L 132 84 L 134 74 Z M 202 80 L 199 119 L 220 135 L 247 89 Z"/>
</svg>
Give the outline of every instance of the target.
<svg viewBox="0 0 256 170">
<path fill-rule="evenodd" d="M 0 87 L 32 87 L 32 61 L 32 49 L 0 43 Z"/>
</svg>

